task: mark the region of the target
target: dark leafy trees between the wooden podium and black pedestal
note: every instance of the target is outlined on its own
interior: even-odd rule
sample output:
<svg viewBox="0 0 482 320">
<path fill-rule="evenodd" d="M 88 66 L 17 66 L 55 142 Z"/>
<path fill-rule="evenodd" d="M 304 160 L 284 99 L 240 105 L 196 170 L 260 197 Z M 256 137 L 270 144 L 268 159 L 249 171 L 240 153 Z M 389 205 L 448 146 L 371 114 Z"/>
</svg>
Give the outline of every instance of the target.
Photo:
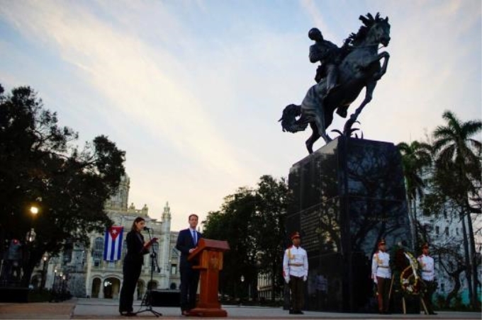
<svg viewBox="0 0 482 320">
<path fill-rule="evenodd" d="M 257 188 L 239 188 L 225 197 L 221 209 L 209 212 L 204 223 L 204 236 L 227 240 L 220 292 L 236 297 L 252 290 L 255 297 L 257 275 L 271 277 L 272 296 L 282 285 L 281 262 L 286 231 L 284 215 L 288 202 L 288 186 L 284 179 L 262 176 Z M 240 279 L 243 277 L 245 282 Z"/>
</svg>

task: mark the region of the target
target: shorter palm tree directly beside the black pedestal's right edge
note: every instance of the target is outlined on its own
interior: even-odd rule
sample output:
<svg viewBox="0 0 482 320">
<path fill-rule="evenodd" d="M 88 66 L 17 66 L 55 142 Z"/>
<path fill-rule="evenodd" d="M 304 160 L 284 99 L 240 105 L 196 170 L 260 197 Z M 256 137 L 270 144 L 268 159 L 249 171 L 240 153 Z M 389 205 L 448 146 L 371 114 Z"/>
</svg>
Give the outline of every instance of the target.
<svg viewBox="0 0 482 320">
<path fill-rule="evenodd" d="M 410 144 L 400 142 L 397 145 L 402 154 L 403 176 L 407 190 L 408 215 L 410 216 L 413 250 L 417 248 L 417 198 L 423 198 L 425 182 L 423 169 L 432 164 L 432 147 L 423 142 L 413 141 Z"/>
</svg>

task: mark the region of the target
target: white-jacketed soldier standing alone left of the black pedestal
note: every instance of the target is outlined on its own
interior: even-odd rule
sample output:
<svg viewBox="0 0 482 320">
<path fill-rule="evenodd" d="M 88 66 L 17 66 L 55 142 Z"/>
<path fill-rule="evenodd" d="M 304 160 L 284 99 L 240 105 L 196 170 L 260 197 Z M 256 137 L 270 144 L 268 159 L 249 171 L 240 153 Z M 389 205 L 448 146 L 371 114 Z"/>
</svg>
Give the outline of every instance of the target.
<svg viewBox="0 0 482 320">
<path fill-rule="evenodd" d="M 291 290 L 290 314 L 303 314 L 301 309 L 304 304 L 305 282 L 308 278 L 308 256 L 305 249 L 301 248 L 299 232 L 291 235 L 293 246 L 284 251 L 283 277 Z"/>
</svg>

